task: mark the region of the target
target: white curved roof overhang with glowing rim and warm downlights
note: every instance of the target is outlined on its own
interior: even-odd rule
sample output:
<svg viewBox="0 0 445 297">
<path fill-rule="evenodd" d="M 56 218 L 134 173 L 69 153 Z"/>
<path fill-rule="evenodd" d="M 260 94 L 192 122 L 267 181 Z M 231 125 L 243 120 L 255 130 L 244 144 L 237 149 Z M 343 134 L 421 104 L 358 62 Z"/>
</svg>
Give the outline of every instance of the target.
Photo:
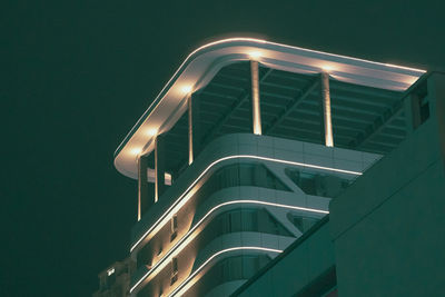
<svg viewBox="0 0 445 297">
<path fill-rule="evenodd" d="M 404 91 L 426 71 L 373 62 L 250 38 L 230 38 L 191 52 L 144 112 L 115 152 L 115 166 L 137 178 L 137 158 L 152 149 L 154 135 L 171 128 L 182 115 L 188 92 L 204 88 L 224 66 L 246 60 L 297 73 L 328 71 L 336 80 Z"/>
</svg>

